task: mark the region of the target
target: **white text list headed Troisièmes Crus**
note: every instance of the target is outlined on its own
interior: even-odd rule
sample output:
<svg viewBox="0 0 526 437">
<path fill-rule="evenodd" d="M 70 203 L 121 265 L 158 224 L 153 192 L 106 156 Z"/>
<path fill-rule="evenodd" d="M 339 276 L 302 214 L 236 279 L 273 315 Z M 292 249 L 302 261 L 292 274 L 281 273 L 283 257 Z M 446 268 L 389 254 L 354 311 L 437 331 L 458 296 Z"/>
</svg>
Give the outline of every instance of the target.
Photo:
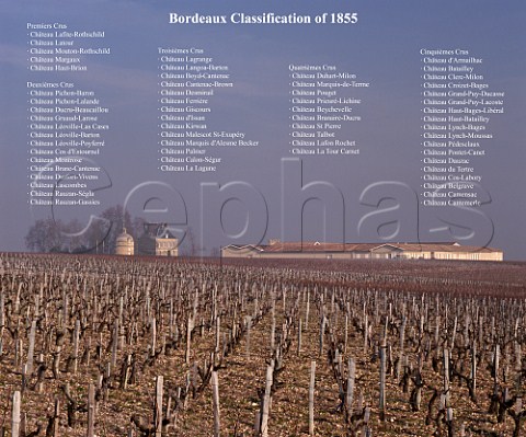
<svg viewBox="0 0 526 437">
<path fill-rule="evenodd" d="M 216 172 L 218 149 L 260 146 L 242 129 L 210 126 L 215 97 L 235 87 L 228 65 L 198 47 L 158 47 L 158 55 L 161 172 Z"/>
</svg>

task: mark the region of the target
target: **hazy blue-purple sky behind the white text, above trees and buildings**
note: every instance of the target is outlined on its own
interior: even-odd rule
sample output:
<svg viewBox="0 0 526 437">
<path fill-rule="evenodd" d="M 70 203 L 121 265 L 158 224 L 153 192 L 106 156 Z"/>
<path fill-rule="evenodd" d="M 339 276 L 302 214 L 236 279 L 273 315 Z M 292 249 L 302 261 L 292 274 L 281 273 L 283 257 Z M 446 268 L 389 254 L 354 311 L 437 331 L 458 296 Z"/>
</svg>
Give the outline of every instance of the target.
<svg viewBox="0 0 526 437">
<path fill-rule="evenodd" d="M 169 23 L 170 13 L 228 18 L 233 12 L 356 12 L 358 23 Z M 191 226 L 208 251 L 274 237 L 297 240 L 302 228 L 307 240 L 457 239 L 525 260 L 525 21 L 523 0 L 0 1 L 0 250 L 25 250 L 28 227 L 50 215 L 48 207 L 27 204 L 26 82 L 66 80 L 95 91 L 110 108 L 104 116 L 110 130 L 94 157 L 104 168 L 102 205 L 54 211 L 65 219 L 85 222 L 128 199 L 134 216 Z M 104 31 L 98 45 L 110 47 L 111 55 L 89 57 L 87 72 L 30 72 L 27 23 L 56 22 L 75 31 Z M 208 154 L 222 162 L 213 173 L 160 172 L 159 47 L 202 48 L 228 66 L 233 87 L 214 95 L 208 129 L 241 131 L 259 146 L 214 150 Z M 487 202 L 479 208 L 420 205 L 422 48 L 469 50 L 483 59 L 478 72 L 491 90 L 505 92 L 504 114 L 488 124 L 494 138 L 483 142 L 485 156 L 473 160 L 482 176 L 477 192 Z M 339 131 L 357 141 L 358 156 L 289 152 L 289 66 L 324 64 L 370 82 L 348 94 L 362 100 L 356 110 L 362 120 Z M 315 200 L 307 203 L 301 227 L 308 198 Z M 145 204 L 169 212 L 141 212 Z"/>
</svg>

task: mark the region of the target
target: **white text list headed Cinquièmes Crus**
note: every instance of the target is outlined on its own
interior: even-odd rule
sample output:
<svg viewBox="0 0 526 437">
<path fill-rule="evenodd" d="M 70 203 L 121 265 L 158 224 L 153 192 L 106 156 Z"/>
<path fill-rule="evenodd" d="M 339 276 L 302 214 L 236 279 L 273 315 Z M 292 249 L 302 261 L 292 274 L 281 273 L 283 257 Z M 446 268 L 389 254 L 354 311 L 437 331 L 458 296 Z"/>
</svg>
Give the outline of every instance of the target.
<svg viewBox="0 0 526 437">
<path fill-rule="evenodd" d="M 484 59 L 468 49 L 421 49 L 421 203 L 480 206 L 479 160 L 494 139 L 493 117 L 504 114 L 504 91 L 484 77 Z"/>
</svg>

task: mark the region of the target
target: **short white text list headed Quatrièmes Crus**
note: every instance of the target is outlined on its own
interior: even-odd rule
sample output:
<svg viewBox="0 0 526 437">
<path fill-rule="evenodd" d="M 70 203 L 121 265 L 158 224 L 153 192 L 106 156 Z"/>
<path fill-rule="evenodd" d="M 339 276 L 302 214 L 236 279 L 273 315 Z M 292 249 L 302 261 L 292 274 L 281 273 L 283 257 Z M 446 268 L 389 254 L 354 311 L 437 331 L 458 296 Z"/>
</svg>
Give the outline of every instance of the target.
<svg viewBox="0 0 526 437">
<path fill-rule="evenodd" d="M 295 156 L 359 154 L 356 139 L 345 127 L 362 122 L 362 97 L 370 82 L 341 71 L 335 65 L 289 65 L 289 153 Z"/>
</svg>

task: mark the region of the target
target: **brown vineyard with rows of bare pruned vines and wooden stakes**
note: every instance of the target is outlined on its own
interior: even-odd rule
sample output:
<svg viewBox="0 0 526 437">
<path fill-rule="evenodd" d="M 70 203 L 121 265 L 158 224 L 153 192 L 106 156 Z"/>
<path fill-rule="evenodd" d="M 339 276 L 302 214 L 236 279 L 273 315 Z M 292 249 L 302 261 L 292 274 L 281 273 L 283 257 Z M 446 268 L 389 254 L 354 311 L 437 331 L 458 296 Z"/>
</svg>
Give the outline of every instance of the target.
<svg viewBox="0 0 526 437">
<path fill-rule="evenodd" d="M 0 254 L 0 437 L 522 436 L 526 265 Z"/>
</svg>

